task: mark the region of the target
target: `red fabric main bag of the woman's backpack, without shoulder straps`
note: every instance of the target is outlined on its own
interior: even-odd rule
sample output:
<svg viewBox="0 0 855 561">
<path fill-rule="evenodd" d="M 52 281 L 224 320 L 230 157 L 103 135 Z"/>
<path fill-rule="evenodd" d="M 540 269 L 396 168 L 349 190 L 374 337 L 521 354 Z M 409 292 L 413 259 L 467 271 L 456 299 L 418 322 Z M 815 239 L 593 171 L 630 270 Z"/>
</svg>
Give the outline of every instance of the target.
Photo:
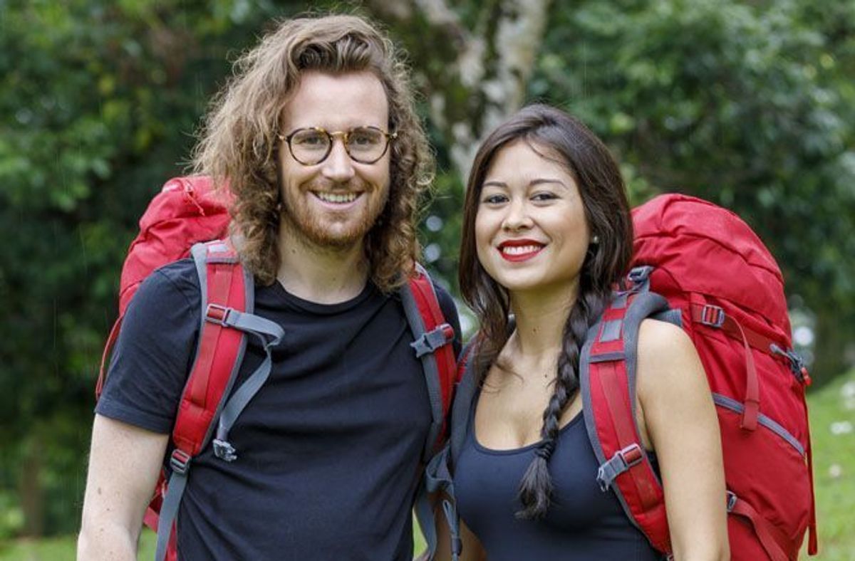
<svg viewBox="0 0 855 561">
<path fill-rule="evenodd" d="M 792 348 L 775 260 L 738 216 L 693 197 L 658 196 L 636 208 L 633 219 L 633 265 L 655 267 L 651 289 L 681 310 L 711 390 L 746 407 L 745 415 L 717 407 L 728 489 L 763 521 L 766 541 L 769 535 L 785 536 L 781 548 L 787 557 L 795 558 L 807 529 L 811 554 L 816 552 L 805 386 L 768 348 L 769 342 Z M 693 313 L 699 301 L 721 307 L 729 327 L 700 323 L 700 314 Z M 806 458 L 754 424 L 758 413 L 793 435 Z M 763 539 L 746 529 L 745 523 L 728 523 L 732 558 L 764 558 Z"/>
</svg>

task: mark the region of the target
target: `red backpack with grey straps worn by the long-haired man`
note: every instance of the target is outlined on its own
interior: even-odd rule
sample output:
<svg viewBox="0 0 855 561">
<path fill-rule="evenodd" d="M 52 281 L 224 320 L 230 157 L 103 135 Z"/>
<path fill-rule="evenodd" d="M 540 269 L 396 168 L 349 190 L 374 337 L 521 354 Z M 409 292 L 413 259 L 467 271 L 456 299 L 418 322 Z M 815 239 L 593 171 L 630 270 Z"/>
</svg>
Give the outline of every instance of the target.
<svg viewBox="0 0 855 561">
<path fill-rule="evenodd" d="M 122 268 L 119 318 L 105 345 L 96 386 L 98 397 L 110 351 L 139 284 L 157 267 L 191 255 L 202 287 L 205 321 L 175 418 L 174 450 L 169 458 L 172 475 L 167 482 L 166 471 L 162 472 L 144 517 L 144 523 L 157 530 L 159 560 L 176 558 L 174 521 L 192 459 L 209 443 L 224 461 L 238 458 L 228 441 L 228 431 L 266 381 L 270 348 L 283 335 L 279 325 L 252 313 L 253 279 L 227 240 L 229 202 L 227 191 L 215 192 L 206 177 L 171 179 L 152 199 L 139 221 L 139 236 L 131 243 Z M 416 266 L 416 275 L 398 294 L 415 338 L 411 346 L 422 362 L 431 400 L 432 423 L 423 451 L 427 461 L 445 435 L 445 413 L 456 375 L 451 345 L 454 330 L 445 321 L 433 282 L 421 266 Z M 232 393 L 247 335 L 260 337 L 268 356 Z"/>
</svg>

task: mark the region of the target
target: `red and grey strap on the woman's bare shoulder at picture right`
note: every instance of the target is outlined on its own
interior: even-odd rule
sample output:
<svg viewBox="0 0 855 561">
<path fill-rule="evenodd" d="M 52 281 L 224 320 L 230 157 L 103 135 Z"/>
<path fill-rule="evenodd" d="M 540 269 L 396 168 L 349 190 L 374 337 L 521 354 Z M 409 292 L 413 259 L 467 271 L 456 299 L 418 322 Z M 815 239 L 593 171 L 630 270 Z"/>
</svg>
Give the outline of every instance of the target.
<svg viewBox="0 0 855 561">
<path fill-rule="evenodd" d="M 635 376 L 641 321 L 663 316 L 668 302 L 651 292 L 616 295 L 588 331 L 580 360 L 582 411 L 600 462 L 597 481 L 613 489 L 629 520 L 658 551 L 670 552 L 662 483 L 635 422 Z"/>
</svg>

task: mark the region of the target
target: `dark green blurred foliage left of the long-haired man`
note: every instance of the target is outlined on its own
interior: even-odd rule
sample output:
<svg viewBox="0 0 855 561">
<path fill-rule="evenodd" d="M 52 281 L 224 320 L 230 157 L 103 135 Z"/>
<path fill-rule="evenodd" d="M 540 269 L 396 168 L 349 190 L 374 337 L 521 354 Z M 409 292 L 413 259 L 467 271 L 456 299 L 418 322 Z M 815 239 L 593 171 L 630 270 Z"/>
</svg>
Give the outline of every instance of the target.
<svg viewBox="0 0 855 561">
<path fill-rule="evenodd" d="M 93 376 L 139 215 L 180 173 L 229 60 L 272 15 L 298 7 L 0 5 L 0 502 L 15 497 L 24 510 L 23 522 L 0 518 L 0 535 L 68 532 L 79 523 Z"/>
</svg>

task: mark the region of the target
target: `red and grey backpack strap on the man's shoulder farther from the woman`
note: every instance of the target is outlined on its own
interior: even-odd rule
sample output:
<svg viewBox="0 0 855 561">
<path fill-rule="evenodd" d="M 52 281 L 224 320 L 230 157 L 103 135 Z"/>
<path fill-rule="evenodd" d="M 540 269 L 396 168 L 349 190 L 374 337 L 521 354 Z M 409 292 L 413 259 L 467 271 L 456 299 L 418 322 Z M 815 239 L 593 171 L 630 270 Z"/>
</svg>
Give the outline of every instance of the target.
<svg viewBox="0 0 855 561">
<path fill-rule="evenodd" d="M 283 335 L 279 325 L 252 315 L 253 280 L 240 265 L 238 254 L 231 243 L 199 243 L 193 246 L 191 254 L 199 277 L 202 318 L 196 358 L 187 377 L 175 418 L 174 450 L 169 459 L 172 475 L 169 477 L 157 521 L 157 561 L 162 561 L 167 556 L 173 559 L 175 556 L 174 522 L 186 488 L 192 458 L 198 455 L 210 440 L 214 419 L 220 418 L 221 429 L 222 419 L 231 411 L 231 404 L 238 404 L 233 409 L 237 409 L 239 413 L 251 398 L 251 395 L 246 397 L 250 392 L 245 391 L 245 388 L 251 386 L 257 391 L 267 378 L 270 369 L 269 347 L 279 342 Z M 224 398 L 231 392 L 243 359 L 245 333 L 261 337 L 268 356 L 233 397 L 225 402 Z M 262 371 L 265 365 L 267 371 Z M 262 373 L 259 374 L 259 371 Z M 251 393 L 254 394 L 255 391 Z M 232 411 L 229 417 L 232 423 L 236 416 Z M 230 427 L 231 424 L 228 424 L 227 429 Z M 218 430 L 218 436 L 220 432 Z M 225 444 L 228 445 L 227 441 Z M 217 456 L 222 457 L 221 453 L 217 453 Z M 231 448 L 231 459 L 234 458 L 234 450 Z"/>
</svg>

